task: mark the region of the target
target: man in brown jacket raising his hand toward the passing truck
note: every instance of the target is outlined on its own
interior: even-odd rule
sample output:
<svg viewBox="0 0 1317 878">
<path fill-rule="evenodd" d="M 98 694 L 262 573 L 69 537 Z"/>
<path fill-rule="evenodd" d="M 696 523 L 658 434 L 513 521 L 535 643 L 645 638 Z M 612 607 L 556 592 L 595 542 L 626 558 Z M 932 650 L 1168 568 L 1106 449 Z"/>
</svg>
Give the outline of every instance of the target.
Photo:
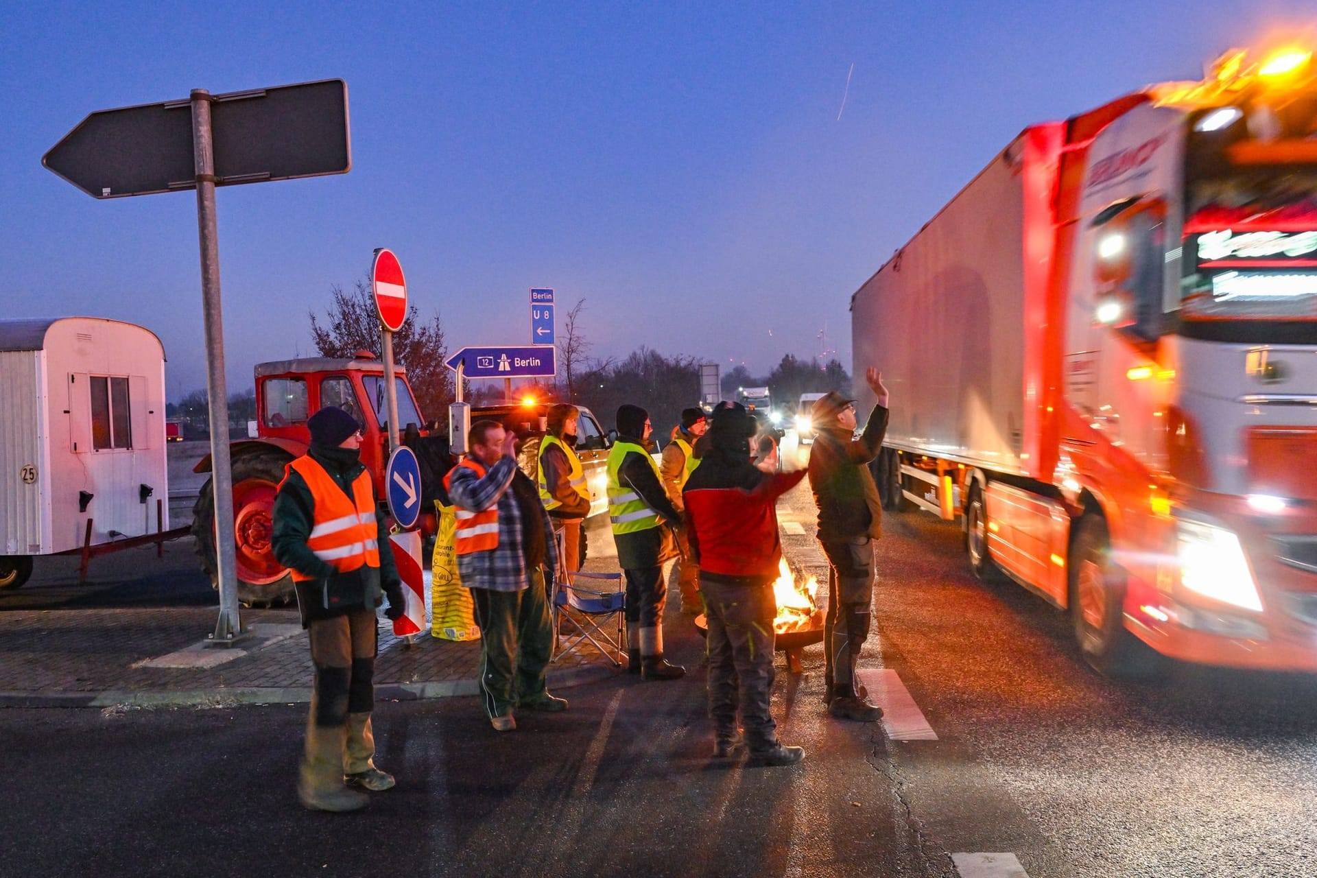
<svg viewBox="0 0 1317 878">
<path fill-rule="evenodd" d="M 818 538 L 831 567 L 823 625 L 823 699 L 838 719 L 873 723 L 882 710 L 865 699 L 855 679 L 860 648 L 869 636 L 873 604 L 873 540 L 882 536 L 882 502 L 868 463 L 888 429 L 888 388 L 872 366 L 865 383 L 877 398 L 864 433 L 853 438 L 855 400 L 832 391 L 814 401 L 817 432 L 810 452 L 810 488 L 819 508 Z"/>
</svg>

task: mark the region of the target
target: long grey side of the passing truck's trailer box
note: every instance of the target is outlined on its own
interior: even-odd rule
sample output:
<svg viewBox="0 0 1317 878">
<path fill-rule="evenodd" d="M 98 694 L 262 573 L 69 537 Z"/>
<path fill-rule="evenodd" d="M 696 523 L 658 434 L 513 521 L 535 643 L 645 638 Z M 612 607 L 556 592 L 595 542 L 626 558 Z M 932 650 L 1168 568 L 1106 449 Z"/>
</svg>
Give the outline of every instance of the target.
<svg viewBox="0 0 1317 878">
<path fill-rule="evenodd" d="M 851 297 L 857 395 L 873 404 L 865 366 L 892 391 L 884 445 L 1027 469 L 1019 153 L 1002 151 Z"/>
</svg>

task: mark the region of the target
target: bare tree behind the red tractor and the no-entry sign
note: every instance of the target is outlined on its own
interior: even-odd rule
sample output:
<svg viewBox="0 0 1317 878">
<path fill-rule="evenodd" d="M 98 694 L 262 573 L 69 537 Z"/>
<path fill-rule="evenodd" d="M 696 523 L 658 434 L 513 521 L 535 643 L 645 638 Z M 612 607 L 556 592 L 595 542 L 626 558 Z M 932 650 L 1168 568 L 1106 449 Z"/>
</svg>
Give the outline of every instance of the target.
<svg viewBox="0 0 1317 878">
<path fill-rule="evenodd" d="M 311 313 L 311 337 L 321 357 L 353 357 L 358 350 L 381 355 L 379 316 L 375 311 L 370 278 L 358 279 L 352 291 L 338 284 L 331 287 L 333 304 L 324 325 Z M 436 313 L 421 324 L 416 305 L 407 309 L 407 321 L 394 333 L 394 361 L 407 370 L 416 404 L 423 417 L 448 423 L 448 404 L 453 401 L 453 373 L 444 365 L 448 345 Z"/>
</svg>

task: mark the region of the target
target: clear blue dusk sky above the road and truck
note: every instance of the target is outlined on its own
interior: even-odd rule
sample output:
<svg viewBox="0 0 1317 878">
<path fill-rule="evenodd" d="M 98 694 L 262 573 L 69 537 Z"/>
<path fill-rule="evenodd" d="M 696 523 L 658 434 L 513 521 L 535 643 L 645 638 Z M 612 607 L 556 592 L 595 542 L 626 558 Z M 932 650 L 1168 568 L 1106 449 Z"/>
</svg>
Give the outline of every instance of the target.
<svg viewBox="0 0 1317 878">
<path fill-rule="evenodd" d="M 452 348 L 527 344 L 544 286 L 586 300 L 595 355 L 766 373 L 826 328 L 849 367 L 849 295 L 1025 125 L 1314 24 L 1310 0 L 0 0 L 0 316 L 140 323 L 171 399 L 204 386 L 195 196 L 97 201 L 41 155 L 96 109 L 342 78 L 350 174 L 219 191 L 230 391 L 312 353 L 308 311 L 377 246 Z"/>
</svg>

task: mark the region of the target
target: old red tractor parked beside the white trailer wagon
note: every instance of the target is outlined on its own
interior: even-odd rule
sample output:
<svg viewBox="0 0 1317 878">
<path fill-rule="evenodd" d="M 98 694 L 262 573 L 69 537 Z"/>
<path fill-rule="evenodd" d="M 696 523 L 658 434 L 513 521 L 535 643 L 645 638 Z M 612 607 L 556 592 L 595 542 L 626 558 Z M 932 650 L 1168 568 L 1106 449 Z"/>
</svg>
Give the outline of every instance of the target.
<svg viewBox="0 0 1317 878">
<path fill-rule="evenodd" d="M 411 386 L 399 369 L 398 421 L 403 442 L 412 446 L 428 474 L 446 470 L 446 438 L 428 436 L 416 408 Z M 274 496 L 284 466 L 306 453 L 311 441 L 307 419 L 325 405 L 337 405 L 362 425 L 361 462 L 375 480 L 375 495 L 385 496 L 385 466 L 389 462 L 389 425 L 385 404 L 385 366 L 369 351 L 354 359 L 284 359 L 255 367 L 257 436 L 229 446 L 233 461 L 233 536 L 237 544 L 238 600 L 249 607 L 269 607 L 294 600 L 292 577 L 274 558 Z M 211 457 L 195 473 L 211 471 Z M 433 490 L 433 486 L 427 486 Z M 428 496 L 428 492 L 427 492 Z M 424 508 L 433 505 L 427 500 Z M 202 486 L 194 508 L 192 533 L 202 567 L 219 587 L 216 565 L 215 500 L 211 480 Z M 435 516 L 423 517 L 421 528 L 433 533 Z"/>
</svg>

